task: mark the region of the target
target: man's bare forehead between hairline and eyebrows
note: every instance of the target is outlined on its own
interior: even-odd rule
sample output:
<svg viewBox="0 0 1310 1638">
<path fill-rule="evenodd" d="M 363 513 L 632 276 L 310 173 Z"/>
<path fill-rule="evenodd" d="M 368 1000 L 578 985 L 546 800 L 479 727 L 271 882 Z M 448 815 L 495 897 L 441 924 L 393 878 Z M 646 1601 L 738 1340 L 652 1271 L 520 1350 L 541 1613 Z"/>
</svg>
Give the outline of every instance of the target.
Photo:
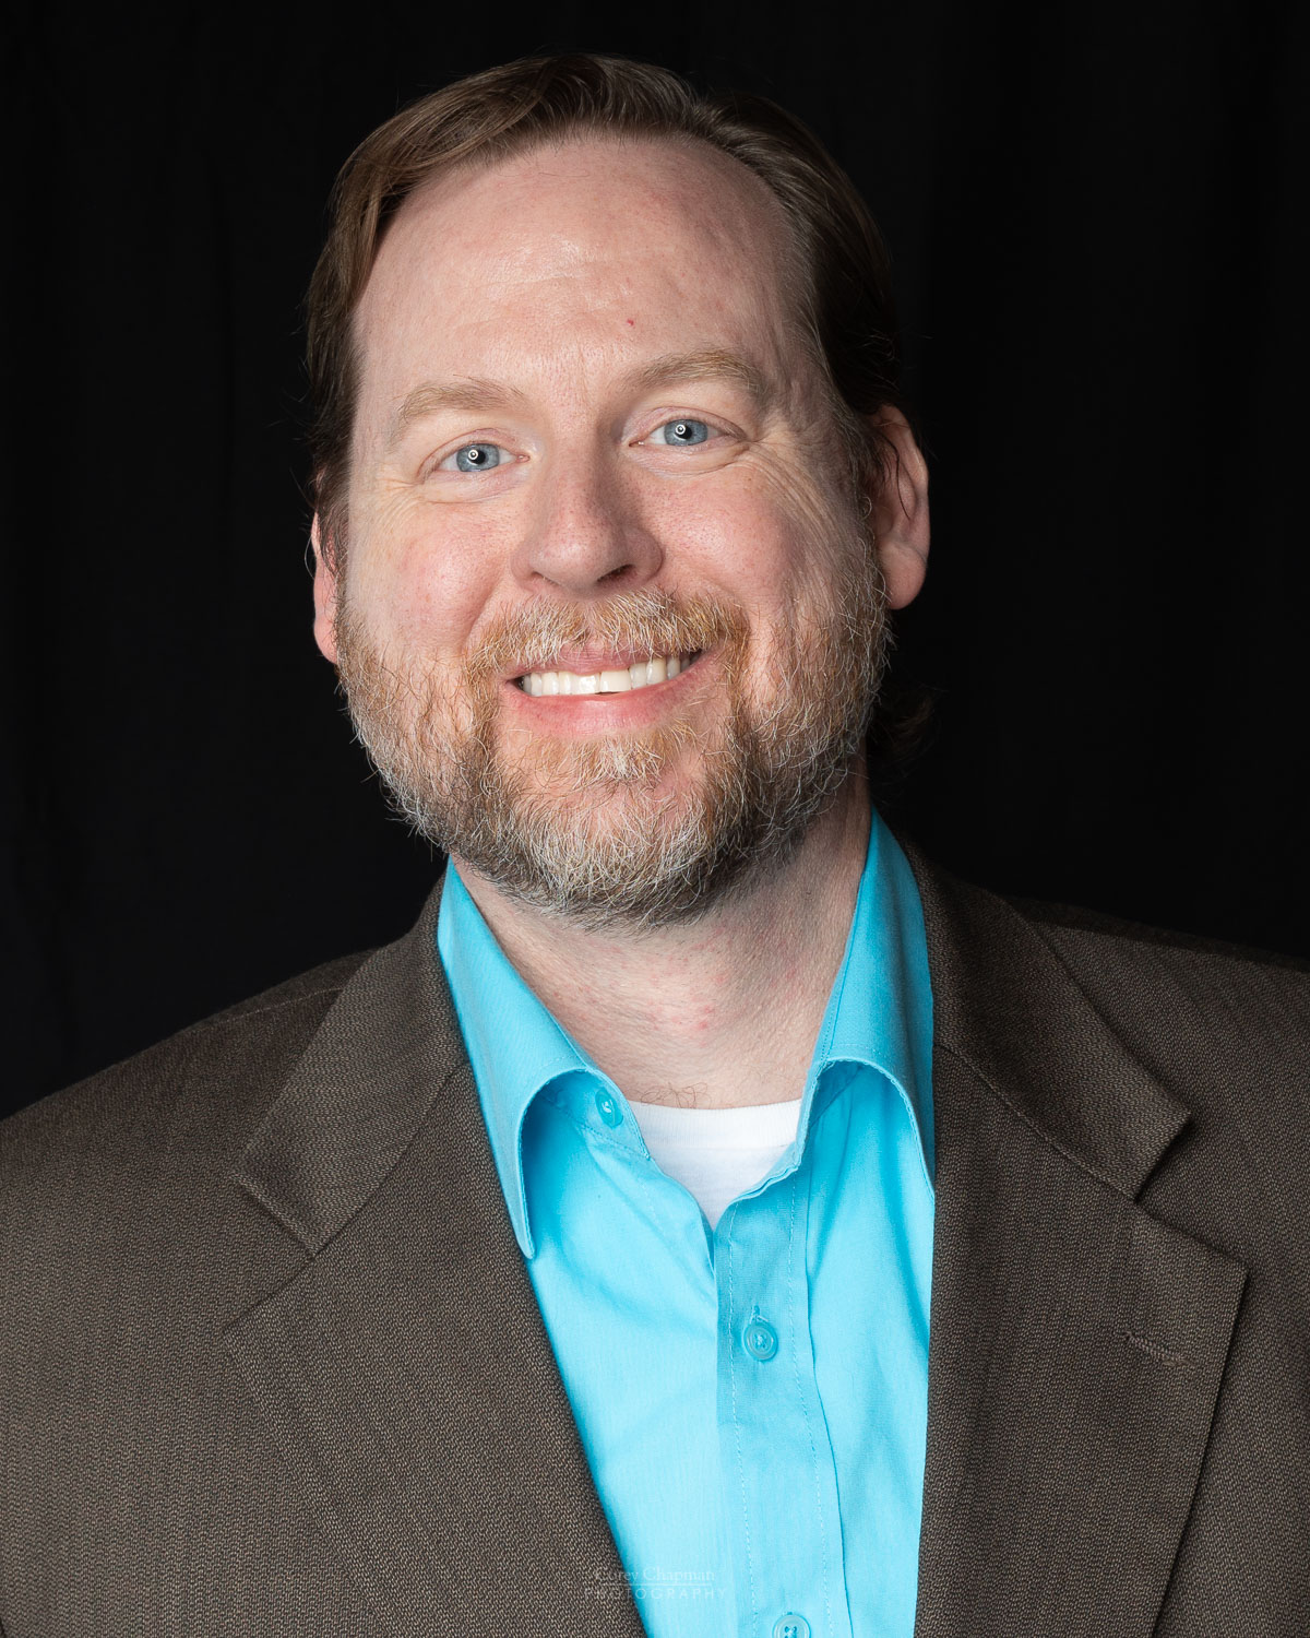
<svg viewBox="0 0 1310 1638">
<path fill-rule="evenodd" d="M 599 378 L 668 351 L 786 377 L 793 283 L 781 205 L 707 144 L 535 147 L 406 200 L 357 313 L 360 410 L 432 375 Z"/>
</svg>

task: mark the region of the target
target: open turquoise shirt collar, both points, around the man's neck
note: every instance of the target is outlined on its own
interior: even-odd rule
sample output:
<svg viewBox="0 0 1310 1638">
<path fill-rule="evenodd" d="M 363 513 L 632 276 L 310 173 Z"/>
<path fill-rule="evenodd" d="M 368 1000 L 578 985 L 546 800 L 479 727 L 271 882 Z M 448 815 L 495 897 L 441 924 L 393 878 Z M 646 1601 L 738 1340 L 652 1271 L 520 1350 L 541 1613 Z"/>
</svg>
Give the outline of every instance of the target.
<svg viewBox="0 0 1310 1638">
<path fill-rule="evenodd" d="M 437 914 L 437 953 L 473 1068 L 491 1153 L 514 1235 L 534 1255 L 524 1186 L 522 1127 L 532 1101 L 565 1076 L 585 1075 L 622 1097 L 527 988 L 496 942 L 454 863 Z M 866 1065 L 899 1094 L 933 1183 L 932 986 L 919 889 L 906 855 L 873 814 L 847 950 L 829 996 L 806 1078 L 797 1127 L 833 1065 Z"/>
</svg>

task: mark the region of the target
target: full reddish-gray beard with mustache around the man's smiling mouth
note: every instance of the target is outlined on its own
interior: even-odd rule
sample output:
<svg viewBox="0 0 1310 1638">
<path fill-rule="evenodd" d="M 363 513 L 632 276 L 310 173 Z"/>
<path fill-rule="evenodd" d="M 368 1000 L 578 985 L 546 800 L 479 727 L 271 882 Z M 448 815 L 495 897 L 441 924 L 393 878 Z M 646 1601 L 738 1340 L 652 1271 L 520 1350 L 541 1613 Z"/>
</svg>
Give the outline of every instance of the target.
<svg viewBox="0 0 1310 1638">
<path fill-rule="evenodd" d="M 870 534 L 848 531 L 832 578 L 771 637 L 768 675 L 747 688 L 740 606 L 642 588 L 524 608 L 452 670 L 383 652 L 342 595 L 337 675 L 355 734 L 414 830 L 575 927 L 644 930 L 694 922 L 783 870 L 852 776 L 889 649 Z M 724 711 L 709 726 L 673 714 L 503 745 L 504 668 L 549 670 L 565 647 L 712 650 Z M 706 716 L 702 699 L 698 722 Z"/>
</svg>

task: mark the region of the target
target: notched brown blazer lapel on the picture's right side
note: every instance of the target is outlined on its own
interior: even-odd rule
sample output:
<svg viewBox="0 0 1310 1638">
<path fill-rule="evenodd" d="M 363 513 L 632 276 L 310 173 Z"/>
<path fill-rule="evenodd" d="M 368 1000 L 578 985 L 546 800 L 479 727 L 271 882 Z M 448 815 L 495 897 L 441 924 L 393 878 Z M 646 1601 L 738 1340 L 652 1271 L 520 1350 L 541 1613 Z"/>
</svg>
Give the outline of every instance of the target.
<svg viewBox="0 0 1310 1638">
<path fill-rule="evenodd" d="M 1022 917 L 907 853 L 937 1127 L 915 1635 L 1136 1638 L 1187 1520 L 1244 1269 L 1133 1204 L 1186 1107 Z"/>
</svg>

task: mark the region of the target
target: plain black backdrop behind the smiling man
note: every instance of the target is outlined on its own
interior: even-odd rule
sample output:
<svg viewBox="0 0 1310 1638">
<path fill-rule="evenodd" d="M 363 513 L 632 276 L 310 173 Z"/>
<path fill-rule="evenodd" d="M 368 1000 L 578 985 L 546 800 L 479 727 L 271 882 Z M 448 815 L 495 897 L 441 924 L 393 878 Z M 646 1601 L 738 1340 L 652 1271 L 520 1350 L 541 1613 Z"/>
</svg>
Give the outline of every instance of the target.
<svg viewBox="0 0 1310 1638">
<path fill-rule="evenodd" d="M 935 526 L 901 819 L 989 886 L 1307 953 L 1308 15 L 11 13 L 8 1104 L 427 891 L 311 640 L 300 301 L 354 143 L 539 49 L 775 97 L 884 228 Z"/>
</svg>

